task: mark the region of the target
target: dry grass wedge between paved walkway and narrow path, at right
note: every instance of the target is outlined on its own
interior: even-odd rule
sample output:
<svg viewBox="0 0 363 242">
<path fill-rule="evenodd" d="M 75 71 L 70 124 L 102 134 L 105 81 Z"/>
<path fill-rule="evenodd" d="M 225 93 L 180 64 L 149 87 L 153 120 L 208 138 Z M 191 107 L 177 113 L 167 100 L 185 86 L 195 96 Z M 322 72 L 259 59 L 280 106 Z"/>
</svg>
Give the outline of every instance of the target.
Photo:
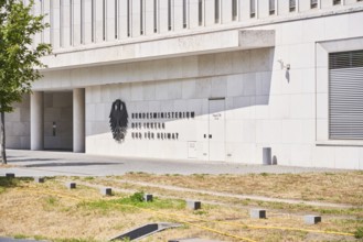
<svg viewBox="0 0 363 242">
<path fill-rule="evenodd" d="M 209 191 L 363 206 L 363 172 L 192 176 L 130 173 L 119 178 Z"/>
</svg>

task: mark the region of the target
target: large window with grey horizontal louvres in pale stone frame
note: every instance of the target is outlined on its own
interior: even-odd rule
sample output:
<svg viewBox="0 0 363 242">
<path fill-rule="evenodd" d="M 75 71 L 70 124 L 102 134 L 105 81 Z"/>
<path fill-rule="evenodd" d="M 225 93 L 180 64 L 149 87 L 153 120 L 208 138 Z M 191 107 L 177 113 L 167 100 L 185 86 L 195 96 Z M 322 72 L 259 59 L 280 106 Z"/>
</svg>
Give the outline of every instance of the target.
<svg viewBox="0 0 363 242">
<path fill-rule="evenodd" d="M 363 51 L 329 54 L 329 139 L 363 140 Z"/>
</svg>

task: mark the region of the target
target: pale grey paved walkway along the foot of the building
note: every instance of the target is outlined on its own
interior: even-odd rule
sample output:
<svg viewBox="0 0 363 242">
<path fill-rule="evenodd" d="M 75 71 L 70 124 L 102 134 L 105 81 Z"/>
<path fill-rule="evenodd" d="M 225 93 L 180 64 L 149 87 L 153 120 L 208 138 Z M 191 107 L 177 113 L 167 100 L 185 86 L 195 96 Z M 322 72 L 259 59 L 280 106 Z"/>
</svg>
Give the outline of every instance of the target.
<svg viewBox="0 0 363 242">
<path fill-rule="evenodd" d="M 170 161 L 153 158 L 127 158 L 97 156 L 72 152 L 7 150 L 8 164 L 0 168 L 0 176 L 111 176 L 126 173 L 152 174 L 259 174 L 259 173 L 321 173 L 339 169 L 293 167 L 281 165 L 246 165 L 236 163 L 199 162 L 193 160 Z"/>
</svg>

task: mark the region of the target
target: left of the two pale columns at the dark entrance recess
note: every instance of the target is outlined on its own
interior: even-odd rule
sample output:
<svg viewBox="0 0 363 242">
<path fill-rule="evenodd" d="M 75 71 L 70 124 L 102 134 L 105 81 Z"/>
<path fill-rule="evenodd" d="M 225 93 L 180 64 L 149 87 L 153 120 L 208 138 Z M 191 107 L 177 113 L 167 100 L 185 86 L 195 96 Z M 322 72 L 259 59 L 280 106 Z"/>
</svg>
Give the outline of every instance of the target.
<svg viewBox="0 0 363 242">
<path fill-rule="evenodd" d="M 44 92 L 34 91 L 30 98 L 30 148 L 44 148 Z"/>
</svg>

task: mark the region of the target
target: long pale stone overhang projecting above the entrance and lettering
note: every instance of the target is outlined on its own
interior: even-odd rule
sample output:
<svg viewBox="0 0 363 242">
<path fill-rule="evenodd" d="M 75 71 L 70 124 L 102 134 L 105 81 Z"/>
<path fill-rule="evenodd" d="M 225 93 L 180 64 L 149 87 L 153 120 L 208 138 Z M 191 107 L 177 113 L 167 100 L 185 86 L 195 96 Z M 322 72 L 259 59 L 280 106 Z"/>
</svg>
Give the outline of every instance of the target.
<svg viewBox="0 0 363 242">
<path fill-rule="evenodd" d="M 229 30 L 74 47 L 57 51 L 42 61 L 47 65 L 43 69 L 46 72 L 274 46 L 274 30 Z"/>
</svg>

